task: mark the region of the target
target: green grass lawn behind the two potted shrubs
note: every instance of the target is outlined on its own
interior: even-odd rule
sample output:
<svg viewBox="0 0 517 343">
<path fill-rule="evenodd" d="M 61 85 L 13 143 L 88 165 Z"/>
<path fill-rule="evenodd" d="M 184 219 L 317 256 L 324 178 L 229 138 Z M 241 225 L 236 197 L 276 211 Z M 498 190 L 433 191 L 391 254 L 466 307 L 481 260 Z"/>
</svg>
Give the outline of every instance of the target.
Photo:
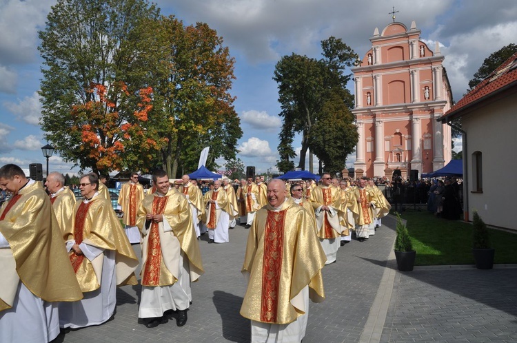
<svg viewBox="0 0 517 343">
<path fill-rule="evenodd" d="M 462 221 L 435 218 L 427 211 L 405 211 L 407 229 L 416 250 L 417 266 L 474 264 L 472 225 Z M 517 264 L 517 234 L 489 229 L 494 263 Z"/>
</svg>

